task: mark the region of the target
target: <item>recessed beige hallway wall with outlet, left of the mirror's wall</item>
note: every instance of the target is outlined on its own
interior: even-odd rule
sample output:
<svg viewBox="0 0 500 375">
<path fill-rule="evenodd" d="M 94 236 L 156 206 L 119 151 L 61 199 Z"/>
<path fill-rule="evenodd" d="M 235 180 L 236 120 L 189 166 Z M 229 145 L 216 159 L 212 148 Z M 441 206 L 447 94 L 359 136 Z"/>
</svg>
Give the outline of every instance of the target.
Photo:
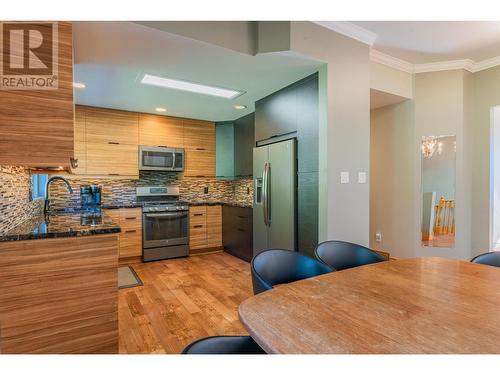
<svg viewBox="0 0 500 375">
<path fill-rule="evenodd" d="M 371 111 L 370 247 L 397 258 L 414 254 L 414 103 Z M 382 242 L 375 233 L 382 233 Z"/>
</svg>

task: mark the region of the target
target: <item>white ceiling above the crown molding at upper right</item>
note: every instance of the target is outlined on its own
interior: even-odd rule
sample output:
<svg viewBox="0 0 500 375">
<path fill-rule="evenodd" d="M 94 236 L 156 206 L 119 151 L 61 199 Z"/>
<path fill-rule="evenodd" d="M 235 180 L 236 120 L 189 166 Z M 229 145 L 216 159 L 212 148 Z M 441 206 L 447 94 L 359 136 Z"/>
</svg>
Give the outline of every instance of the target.
<svg viewBox="0 0 500 375">
<path fill-rule="evenodd" d="M 500 22 L 479 21 L 356 21 L 352 24 L 376 35 L 373 48 L 408 61 L 425 64 L 500 56 Z"/>
</svg>

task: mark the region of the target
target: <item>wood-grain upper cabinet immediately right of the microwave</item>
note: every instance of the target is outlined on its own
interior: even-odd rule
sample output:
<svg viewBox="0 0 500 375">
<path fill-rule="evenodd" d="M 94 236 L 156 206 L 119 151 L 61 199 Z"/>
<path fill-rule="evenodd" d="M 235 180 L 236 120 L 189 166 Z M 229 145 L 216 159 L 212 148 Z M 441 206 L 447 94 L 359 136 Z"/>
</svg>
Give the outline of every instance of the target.
<svg viewBox="0 0 500 375">
<path fill-rule="evenodd" d="M 184 176 L 215 177 L 215 124 L 201 120 L 183 120 Z"/>
</svg>

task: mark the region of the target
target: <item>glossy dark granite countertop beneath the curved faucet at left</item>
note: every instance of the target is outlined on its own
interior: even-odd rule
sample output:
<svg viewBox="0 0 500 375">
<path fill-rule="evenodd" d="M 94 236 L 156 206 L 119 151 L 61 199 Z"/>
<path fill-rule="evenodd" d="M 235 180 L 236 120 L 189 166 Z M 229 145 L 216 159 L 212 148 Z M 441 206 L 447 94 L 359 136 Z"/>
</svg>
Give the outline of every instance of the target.
<svg viewBox="0 0 500 375">
<path fill-rule="evenodd" d="M 102 213 L 58 212 L 25 221 L 7 233 L 0 234 L 0 242 L 93 236 L 120 231 L 120 226 Z"/>
</svg>

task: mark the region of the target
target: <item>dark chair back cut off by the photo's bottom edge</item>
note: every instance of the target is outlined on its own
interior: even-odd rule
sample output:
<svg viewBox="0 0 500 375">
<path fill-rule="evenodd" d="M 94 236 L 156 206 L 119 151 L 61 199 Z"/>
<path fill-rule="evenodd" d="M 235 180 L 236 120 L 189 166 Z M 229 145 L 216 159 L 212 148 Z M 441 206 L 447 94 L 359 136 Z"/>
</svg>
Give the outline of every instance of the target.
<svg viewBox="0 0 500 375">
<path fill-rule="evenodd" d="M 266 354 L 250 336 L 211 336 L 184 348 L 182 354 Z"/>
</svg>

